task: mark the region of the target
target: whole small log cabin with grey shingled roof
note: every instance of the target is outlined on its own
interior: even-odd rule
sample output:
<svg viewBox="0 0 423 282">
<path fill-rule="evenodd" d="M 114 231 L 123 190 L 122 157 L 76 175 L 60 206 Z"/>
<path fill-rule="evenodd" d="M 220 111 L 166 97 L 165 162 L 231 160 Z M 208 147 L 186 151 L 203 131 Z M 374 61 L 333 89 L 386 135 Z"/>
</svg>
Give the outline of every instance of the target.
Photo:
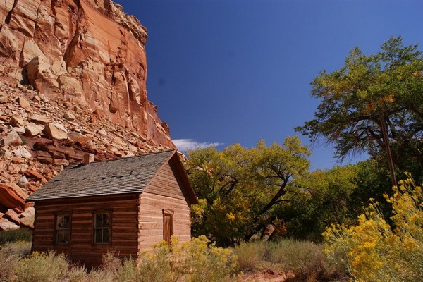
<svg viewBox="0 0 423 282">
<path fill-rule="evenodd" d="M 176 151 L 71 165 L 26 201 L 35 203 L 32 250 L 88 267 L 110 250 L 137 258 L 171 235 L 190 240 L 198 203 Z"/>
</svg>

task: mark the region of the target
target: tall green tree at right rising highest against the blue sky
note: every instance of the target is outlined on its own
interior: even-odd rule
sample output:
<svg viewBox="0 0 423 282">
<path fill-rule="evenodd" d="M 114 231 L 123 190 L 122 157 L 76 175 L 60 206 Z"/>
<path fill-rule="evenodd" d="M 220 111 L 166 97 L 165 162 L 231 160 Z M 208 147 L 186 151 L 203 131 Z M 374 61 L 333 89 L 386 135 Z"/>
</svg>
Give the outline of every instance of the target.
<svg viewBox="0 0 423 282">
<path fill-rule="evenodd" d="M 355 47 L 344 66 L 312 81 L 311 94 L 321 103 L 315 118 L 296 130 L 313 142 L 326 138 L 341 159 L 362 151 L 384 158 L 396 185 L 394 165 L 403 169 L 410 157 L 423 161 L 422 71 L 422 52 L 401 37 L 369 56 Z"/>
</svg>

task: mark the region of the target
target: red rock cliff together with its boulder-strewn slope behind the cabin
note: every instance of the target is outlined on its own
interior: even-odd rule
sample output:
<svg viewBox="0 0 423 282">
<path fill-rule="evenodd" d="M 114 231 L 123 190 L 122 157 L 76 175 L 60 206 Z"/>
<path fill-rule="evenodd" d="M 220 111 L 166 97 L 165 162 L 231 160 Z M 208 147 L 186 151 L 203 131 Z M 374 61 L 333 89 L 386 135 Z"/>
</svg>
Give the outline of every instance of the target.
<svg viewBox="0 0 423 282">
<path fill-rule="evenodd" d="M 27 195 L 95 160 L 174 149 L 147 100 L 147 30 L 109 0 L 0 3 L 0 231 L 32 228 Z"/>
</svg>

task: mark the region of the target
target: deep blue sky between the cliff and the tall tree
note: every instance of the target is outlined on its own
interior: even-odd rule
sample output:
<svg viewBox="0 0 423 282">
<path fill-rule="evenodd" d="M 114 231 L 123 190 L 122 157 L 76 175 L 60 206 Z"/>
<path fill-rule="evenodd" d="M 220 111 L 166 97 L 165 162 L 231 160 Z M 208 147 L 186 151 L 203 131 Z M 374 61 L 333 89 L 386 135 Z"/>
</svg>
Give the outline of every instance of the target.
<svg viewBox="0 0 423 282">
<path fill-rule="evenodd" d="M 309 82 L 319 71 L 340 68 L 355 46 L 374 53 L 391 35 L 423 42 L 423 1 L 116 2 L 147 27 L 147 97 L 180 149 L 283 143 L 313 118 Z M 312 169 L 337 164 L 324 140 L 312 150 Z"/>
</svg>

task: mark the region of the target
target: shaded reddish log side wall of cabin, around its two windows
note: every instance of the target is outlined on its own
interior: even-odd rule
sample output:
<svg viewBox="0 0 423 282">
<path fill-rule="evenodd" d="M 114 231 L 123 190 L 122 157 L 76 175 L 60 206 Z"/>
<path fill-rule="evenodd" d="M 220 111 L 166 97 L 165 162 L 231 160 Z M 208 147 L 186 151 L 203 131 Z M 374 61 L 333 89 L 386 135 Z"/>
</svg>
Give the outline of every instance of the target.
<svg viewBox="0 0 423 282">
<path fill-rule="evenodd" d="M 115 250 L 121 257 L 137 257 L 139 195 L 113 195 L 72 200 L 44 200 L 35 204 L 32 250 L 56 250 L 87 266 L 101 264 L 102 255 Z M 93 212 L 111 212 L 111 244 L 94 245 Z M 71 212 L 70 244 L 54 244 L 55 214 Z"/>
</svg>

